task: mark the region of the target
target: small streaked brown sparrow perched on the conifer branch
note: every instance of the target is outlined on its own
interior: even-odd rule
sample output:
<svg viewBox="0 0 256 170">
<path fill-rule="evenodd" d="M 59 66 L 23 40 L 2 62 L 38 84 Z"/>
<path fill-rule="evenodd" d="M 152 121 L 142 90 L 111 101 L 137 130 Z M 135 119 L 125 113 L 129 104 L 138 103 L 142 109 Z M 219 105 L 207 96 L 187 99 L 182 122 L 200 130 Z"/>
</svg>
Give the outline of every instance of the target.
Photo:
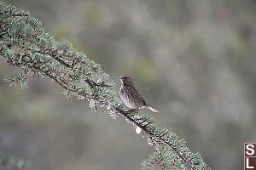
<svg viewBox="0 0 256 170">
<path fill-rule="evenodd" d="M 141 94 L 137 92 L 131 77 L 123 75 L 119 77 L 122 82 L 119 94 L 122 102 L 130 109 L 148 108 L 150 111 L 159 112 L 151 105 L 148 105 Z"/>
</svg>

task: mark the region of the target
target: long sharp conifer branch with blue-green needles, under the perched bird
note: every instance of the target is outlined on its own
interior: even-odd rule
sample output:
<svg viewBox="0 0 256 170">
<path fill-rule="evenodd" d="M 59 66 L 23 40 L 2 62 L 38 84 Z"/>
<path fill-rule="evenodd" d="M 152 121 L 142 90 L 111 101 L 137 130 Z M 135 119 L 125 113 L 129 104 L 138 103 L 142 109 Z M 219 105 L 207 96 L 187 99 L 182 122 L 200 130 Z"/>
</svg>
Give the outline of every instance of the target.
<svg viewBox="0 0 256 170">
<path fill-rule="evenodd" d="M 46 76 L 65 90 L 63 94 L 67 98 L 87 100 L 94 110 L 98 106 L 106 107 L 113 118 L 125 117 L 154 148 L 154 154 L 143 161 L 143 168 L 210 169 L 201 155 L 192 153 L 171 130 L 159 127 L 150 116 L 125 111 L 114 83 L 108 80 L 101 66 L 76 51 L 69 42 L 56 42 L 28 12 L 0 3 L 0 24 L 0 56 L 20 69 L 20 73 L 5 77 L 4 81 L 19 82 L 21 87 L 26 87 L 27 76 Z"/>
</svg>

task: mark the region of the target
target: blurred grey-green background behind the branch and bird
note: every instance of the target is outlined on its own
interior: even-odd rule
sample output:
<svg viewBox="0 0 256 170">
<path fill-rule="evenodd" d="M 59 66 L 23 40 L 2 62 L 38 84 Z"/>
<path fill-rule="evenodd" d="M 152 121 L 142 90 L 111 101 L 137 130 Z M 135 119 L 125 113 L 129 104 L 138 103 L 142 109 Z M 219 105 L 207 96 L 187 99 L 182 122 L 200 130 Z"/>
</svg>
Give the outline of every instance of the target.
<svg viewBox="0 0 256 170">
<path fill-rule="evenodd" d="M 243 143 L 256 142 L 256 1 L 6 0 L 31 11 L 55 39 L 117 77 L 128 74 L 212 169 L 242 169 Z M 49 78 L 29 88 L 3 82 L 0 153 L 36 170 L 141 169 L 152 152 L 123 118 L 64 98 Z M 145 114 L 150 111 L 143 110 Z"/>
</svg>

